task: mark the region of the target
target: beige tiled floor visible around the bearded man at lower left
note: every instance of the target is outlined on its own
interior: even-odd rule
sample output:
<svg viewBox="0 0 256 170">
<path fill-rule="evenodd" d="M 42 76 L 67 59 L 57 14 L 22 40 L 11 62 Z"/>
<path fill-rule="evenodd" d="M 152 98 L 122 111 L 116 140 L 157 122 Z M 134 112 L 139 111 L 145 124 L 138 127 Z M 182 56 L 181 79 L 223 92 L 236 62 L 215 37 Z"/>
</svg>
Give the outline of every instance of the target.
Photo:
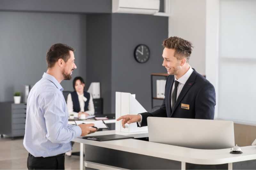
<svg viewBox="0 0 256 170">
<path fill-rule="evenodd" d="M 74 144 L 73 150 L 79 151 L 80 145 Z M 23 138 L 0 138 L 0 169 L 28 169 L 28 152 L 23 147 Z M 79 156 L 66 156 L 65 169 L 79 169 Z"/>
</svg>

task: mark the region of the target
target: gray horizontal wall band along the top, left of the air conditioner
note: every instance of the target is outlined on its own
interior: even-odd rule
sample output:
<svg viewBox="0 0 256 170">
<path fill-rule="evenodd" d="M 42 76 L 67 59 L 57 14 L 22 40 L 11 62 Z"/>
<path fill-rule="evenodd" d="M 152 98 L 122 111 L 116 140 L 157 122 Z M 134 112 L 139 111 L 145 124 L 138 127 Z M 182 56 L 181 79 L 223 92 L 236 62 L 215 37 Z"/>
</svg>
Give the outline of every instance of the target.
<svg viewBox="0 0 256 170">
<path fill-rule="evenodd" d="M 0 10 L 111 13 L 112 0 L 0 0 Z"/>
</svg>

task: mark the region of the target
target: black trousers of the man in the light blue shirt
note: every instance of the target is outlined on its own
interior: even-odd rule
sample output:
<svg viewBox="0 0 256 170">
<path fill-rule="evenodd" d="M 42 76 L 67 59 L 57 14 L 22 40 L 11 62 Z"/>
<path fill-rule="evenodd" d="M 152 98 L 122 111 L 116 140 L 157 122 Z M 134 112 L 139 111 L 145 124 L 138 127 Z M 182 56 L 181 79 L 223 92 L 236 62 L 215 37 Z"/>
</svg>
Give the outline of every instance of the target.
<svg viewBox="0 0 256 170">
<path fill-rule="evenodd" d="M 51 157 L 34 157 L 28 154 L 28 169 L 65 169 L 65 155 Z"/>
</svg>

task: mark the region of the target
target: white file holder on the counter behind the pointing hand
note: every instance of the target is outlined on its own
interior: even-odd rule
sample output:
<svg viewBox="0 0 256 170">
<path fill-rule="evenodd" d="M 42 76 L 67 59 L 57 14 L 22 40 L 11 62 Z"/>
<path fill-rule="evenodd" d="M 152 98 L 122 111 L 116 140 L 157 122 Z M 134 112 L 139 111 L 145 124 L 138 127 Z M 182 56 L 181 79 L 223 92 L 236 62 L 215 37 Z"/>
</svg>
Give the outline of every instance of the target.
<svg viewBox="0 0 256 170">
<path fill-rule="evenodd" d="M 137 115 L 139 113 L 147 112 L 144 107 L 135 99 L 135 94 L 125 92 L 116 92 L 116 118 L 123 115 Z M 137 123 L 125 124 L 122 126 L 122 121 L 116 122 L 116 130 L 121 132 L 141 132 L 147 131 L 148 126 L 137 127 Z"/>
</svg>

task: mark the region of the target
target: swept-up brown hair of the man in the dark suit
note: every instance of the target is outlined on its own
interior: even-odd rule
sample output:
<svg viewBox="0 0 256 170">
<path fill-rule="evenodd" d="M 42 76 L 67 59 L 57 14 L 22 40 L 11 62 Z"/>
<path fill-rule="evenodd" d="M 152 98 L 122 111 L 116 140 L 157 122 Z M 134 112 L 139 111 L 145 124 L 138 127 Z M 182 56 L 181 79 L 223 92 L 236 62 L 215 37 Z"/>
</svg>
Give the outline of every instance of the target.
<svg viewBox="0 0 256 170">
<path fill-rule="evenodd" d="M 192 52 L 192 43 L 190 41 L 184 40 L 180 37 L 170 37 L 164 40 L 163 46 L 165 48 L 175 49 L 174 57 L 177 59 L 186 58 L 189 61 L 190 54 Z"/>
</svg>

